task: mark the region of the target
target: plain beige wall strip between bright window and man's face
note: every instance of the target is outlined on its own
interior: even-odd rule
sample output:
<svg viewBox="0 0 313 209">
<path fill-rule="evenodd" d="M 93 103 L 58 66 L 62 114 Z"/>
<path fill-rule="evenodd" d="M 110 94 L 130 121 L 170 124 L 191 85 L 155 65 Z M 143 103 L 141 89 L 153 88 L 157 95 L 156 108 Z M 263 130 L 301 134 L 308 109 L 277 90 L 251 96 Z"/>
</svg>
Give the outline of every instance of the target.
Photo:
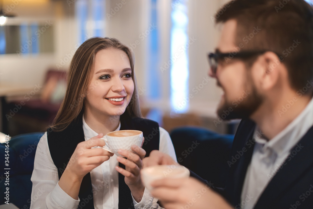
<svg viewBox="0 0 313 209">
<path fill-rule="evenodd" d="M 215 50 L 218 41 L 218 30 L 213 19 L 220 3 L 198 0 L 189 4 L 189 35 L 197 39 L 189 49 L 189 92 L 193 96 L 190 107 L 194 112 L 212 116 L 221 91 L 216 86 L 216 80 L 208 77 L 207 54 Z"/>
</svg>

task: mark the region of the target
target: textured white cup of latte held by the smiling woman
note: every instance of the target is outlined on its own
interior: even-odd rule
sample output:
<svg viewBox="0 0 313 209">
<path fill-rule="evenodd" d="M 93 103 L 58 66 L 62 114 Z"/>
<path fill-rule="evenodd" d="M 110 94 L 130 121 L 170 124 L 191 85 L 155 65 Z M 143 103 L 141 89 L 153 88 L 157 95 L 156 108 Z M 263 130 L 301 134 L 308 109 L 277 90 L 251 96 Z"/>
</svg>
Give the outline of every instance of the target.
<svg viewBox="0 0 313 209">
<path fill-rule="evenodd" d="M 102 139 L 105 140 L 105 146 L 102 148 L 116 154 L 117 156 L 123 157 L 118 154 L 118 150 L 126 149 L 128 151 L 132 151 L 132 145 L 141 147 L 143 141 L 142 136 L 142 131 L 137 130 L 113 131 L 102 137 Z"/>
</svg>

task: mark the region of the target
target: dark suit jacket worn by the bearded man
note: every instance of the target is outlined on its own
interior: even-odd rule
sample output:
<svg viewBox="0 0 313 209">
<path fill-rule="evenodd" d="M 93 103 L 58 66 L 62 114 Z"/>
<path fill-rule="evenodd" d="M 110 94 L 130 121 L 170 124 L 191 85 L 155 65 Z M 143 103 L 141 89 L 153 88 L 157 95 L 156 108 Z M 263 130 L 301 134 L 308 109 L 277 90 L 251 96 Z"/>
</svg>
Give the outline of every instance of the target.
<svg viewBox="0 0 313 209">
<path fill-rule="evenodd" d="M 245 204 L 241 200 L 241 192 L 253 154 L 254 129 L 253 121 L 241 121 L 233 141 L 230 159 L 233 164 L 229 163 L 230 174 L 226 187 L 223 191 L 212 187 L 236 209 Z M 273 178 L 254 208 L 313 208 L 313 126 L 291 149 L 280 170 L 271 175 Z"/>
</svg>

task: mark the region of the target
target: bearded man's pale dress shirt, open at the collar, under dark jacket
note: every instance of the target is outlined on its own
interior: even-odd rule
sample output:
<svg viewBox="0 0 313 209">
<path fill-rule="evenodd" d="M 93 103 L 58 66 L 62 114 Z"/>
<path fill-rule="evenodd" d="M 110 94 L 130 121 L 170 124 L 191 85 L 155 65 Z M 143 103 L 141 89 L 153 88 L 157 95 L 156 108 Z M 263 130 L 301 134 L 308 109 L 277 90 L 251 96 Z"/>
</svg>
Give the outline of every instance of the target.
<svg viewBox="0 0 313 209">
<path fill-rule="evenodd" d="M 288 114 L 288 110 L 284 114 Z M 301 143 L 298 142 L 312 125 L 313 99 L 284 130 L 271 140 L 266 139 L 258 127 L 255 128 L 253 135 L 255 145 L 241 193 L 241 208 L 250 209 L 255 206 L 270 180 L 292 160 L 291 155 L 296 155 L 297 151 L 301 152 Z M 290 153 L 294 146 L 297 146 L 296 152 Z"/>
</svg>

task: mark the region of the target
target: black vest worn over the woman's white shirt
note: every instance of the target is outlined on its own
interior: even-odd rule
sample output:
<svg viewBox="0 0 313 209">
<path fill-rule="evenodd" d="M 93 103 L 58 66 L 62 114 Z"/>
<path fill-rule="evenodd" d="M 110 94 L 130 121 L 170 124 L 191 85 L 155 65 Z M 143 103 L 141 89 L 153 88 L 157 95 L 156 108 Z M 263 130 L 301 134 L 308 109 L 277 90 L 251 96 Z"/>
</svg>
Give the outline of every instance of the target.
<svg viewBox="0 0 313 209">
<path fill-rule="evenodd" d="M 146 156 L 154 149 L 159 149 L 160 132 L 159 124 L 144 118 L 130 118 L 125 113 L 121 115 L 120 130 L 140 130 L 145 141 L 142 148 L 146 150 Z M 48 145 L 54 165 L 58 168 L 59 179 L 63 174 L 69 159 L 78 143 L 85 141 L 82 114 L 80 114 L 64 131 L 54 132 L 47 130 Z M 121 163 L 120 167 L 125 169 Z M 90 173 L 86 174 L 81 182 L 79 191 L 80 203 L 78 208 L 94 209 L 93 191 Z M 131 191 L 126 185 L 124 176 L 119 173 L 119 208 L 134 208 Z"/>
</svg>

